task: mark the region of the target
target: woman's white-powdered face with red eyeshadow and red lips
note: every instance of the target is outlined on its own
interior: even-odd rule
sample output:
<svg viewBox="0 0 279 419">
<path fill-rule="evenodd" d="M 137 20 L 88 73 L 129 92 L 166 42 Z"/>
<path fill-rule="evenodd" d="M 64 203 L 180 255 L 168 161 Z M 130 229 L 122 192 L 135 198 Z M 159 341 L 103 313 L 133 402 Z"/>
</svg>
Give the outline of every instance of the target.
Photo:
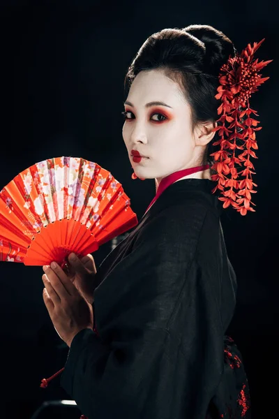
<svg viewBox="0 0 279 419">
<path fill-rule="evenodd" d="M 155 101 L 165 105 L 149 105 Z M 141 71 L 124 105 L 122 135 L 137 177 L 160 182 L 177 170 L 197 166 L 201 149 L 191 130 L 190 105 L 176 82 L 162 71 Z M 148 159 L 133 161 L 133 149 Z"/>
</svg>

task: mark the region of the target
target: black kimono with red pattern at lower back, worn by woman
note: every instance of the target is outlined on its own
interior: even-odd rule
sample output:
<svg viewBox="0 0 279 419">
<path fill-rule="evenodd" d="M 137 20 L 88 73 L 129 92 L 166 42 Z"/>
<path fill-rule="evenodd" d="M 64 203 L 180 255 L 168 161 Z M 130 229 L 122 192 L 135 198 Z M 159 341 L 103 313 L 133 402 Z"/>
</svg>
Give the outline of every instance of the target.
<svg viewBox="0 0 279 419">
<path fill-rule="evenodd" d="M 241 353 L 225 335 L 236 276 L 209 179 L 163 191 L 96 274 L 95 330 L 61 386 L 89 419 L 250 418 Z"/>
</svg>

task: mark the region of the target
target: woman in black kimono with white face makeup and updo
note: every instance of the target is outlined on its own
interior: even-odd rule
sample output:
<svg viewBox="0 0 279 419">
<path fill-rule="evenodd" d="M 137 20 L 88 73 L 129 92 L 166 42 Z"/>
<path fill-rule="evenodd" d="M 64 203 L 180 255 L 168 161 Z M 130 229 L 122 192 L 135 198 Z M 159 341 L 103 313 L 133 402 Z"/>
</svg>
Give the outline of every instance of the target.
<svg viewBox="0 0 279 419">
<path fill-rule="evenodd" d="M 146 40 L 126 75 L 123 140 L 135 177 L 155 179 L 160 195 L 98 272 L 92 256 L 69 260 L 68 277 L 45 270 L 45 304 L 70 346 L 61 385 L 89 419 L 250 418 L 241 354 L 225 335 L 236 276 L 206 166 L 218 73 L 235 53 L 206 25 Z"/>
</svg>

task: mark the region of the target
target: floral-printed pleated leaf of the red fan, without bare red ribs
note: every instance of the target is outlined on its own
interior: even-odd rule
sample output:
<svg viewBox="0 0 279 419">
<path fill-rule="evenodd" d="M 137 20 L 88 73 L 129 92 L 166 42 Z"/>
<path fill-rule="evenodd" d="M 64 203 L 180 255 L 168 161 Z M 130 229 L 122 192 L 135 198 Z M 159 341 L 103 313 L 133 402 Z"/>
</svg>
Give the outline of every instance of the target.
<svg viewBox="0 0 279 419">
<path fill-rule="evenodd" d="M 47 159 L 0 191 L 0 260 L 23 261 L 37 233 L 63 219 L 79 221 L 100 242 L 122 224 L 127 229 L 127 222 L 137 223 L 130 199 L 109 171 L 77 157 Z"/>
</svg>

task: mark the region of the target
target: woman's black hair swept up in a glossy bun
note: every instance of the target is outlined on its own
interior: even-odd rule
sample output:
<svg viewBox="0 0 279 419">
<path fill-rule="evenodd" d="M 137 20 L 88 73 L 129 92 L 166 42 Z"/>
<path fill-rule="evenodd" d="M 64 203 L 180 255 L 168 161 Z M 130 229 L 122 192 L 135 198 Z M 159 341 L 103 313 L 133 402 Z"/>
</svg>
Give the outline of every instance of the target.
<svg viewBox="0 0 279 419">
<path fill-rule="evenodd" d="M 219 119 L 218 76 L 220 68 L 237 51 L 223 32 L 205 25 L 163 29 L 149 36 L 126 73 L 124 87 L 130 89 L 140 71 L 163 70 L 177 82 L 191 110 L 192 130 L 201 122 Z M 206 147 L 206 161 L 212 163 L 212 140 Z"/>
</svg>

